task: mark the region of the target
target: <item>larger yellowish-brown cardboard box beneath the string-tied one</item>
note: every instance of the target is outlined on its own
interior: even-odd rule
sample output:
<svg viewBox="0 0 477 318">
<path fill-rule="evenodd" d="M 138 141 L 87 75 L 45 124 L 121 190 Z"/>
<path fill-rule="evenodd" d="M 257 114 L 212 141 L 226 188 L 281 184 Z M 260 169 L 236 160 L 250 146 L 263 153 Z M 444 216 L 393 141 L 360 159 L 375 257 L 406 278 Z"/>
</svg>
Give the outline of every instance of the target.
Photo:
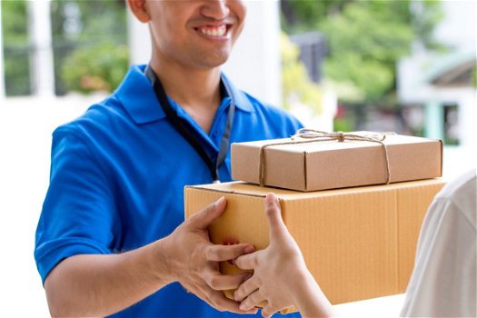
<svg viewBox="0 0 477 318">
<path fill-rule="evenodd" d="M 404 293 L 422 218 L 440 179 L 300 193 L 245 183 L 188 186 L 185 217 L 224 196 L 227 208 L 209 228 L 219 244 L 269 243 L 264 198 L 277 194 L 284 223 L 332 303 Z M 240 273 L 228 262 L 222 273 Z M 226 293 L 228 296 L 233 291 Z"/>
</svg>

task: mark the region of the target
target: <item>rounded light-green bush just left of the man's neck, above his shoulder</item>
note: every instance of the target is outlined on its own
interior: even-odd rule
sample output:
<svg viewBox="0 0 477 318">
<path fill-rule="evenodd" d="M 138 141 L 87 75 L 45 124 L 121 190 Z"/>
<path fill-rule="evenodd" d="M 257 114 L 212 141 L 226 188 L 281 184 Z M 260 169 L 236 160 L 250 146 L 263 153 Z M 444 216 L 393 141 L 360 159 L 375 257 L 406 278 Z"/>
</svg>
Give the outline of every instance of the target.
<svg viewBox="0 0 477 318">
<path fill-rule="evenodd" d="M 105 43 L 77 49 L 62 66 L 62 76 L 68 90 L 88 94 L 94 91 L 112 92 L 121 84 L 127 68 L 128 48 Z"/>
</svg>

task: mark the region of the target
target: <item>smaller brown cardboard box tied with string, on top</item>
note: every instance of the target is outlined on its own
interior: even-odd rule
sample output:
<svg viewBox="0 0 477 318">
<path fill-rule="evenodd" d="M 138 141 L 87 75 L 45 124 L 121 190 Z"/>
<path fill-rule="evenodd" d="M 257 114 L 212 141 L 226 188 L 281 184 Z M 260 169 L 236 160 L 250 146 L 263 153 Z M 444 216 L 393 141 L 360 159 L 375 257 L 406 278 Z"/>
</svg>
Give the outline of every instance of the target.
<svg viewBox="0 0 477 318">
<path fill-rule="evenodd" d="M 356 133 L 357 134 L 357 133 Z M 260 152 L 265 144 L 290 138 L 232 144 L 232 177 L 261 184 Z M 442 176 L 442 141 L 386 134 L 390 183 Z M 386 184 L 383 145 L 369 141 L 318 141 L 263 148 L 263 185 L 316 191 Z"/>
</svg>

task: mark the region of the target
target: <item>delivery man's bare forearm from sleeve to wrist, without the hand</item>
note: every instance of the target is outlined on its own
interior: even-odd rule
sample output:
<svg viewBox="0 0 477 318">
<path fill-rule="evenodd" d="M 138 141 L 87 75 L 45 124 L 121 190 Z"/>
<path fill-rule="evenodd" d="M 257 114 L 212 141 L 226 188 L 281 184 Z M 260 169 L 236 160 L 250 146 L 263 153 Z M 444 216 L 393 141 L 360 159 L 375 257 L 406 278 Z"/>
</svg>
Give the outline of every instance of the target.
<svg viewBox="0 0 477 318">
<path fill-rule="evenodd" d="M 127 253 L 75 255 L 45 280 L 52 316 L 117 313 L 174 279 L 167 270 L 166 239 Z"/>
</svg>

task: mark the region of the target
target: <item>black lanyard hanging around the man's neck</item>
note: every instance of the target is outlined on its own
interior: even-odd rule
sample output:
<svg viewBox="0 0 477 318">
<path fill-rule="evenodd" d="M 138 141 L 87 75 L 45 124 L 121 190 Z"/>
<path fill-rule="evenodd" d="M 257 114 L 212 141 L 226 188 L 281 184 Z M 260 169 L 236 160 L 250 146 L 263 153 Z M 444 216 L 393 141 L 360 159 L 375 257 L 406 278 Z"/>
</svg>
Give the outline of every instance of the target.
<svg viewBox="0 0 477 318">
<path fill-rule="evenodd" d="M 194 128 L 191 127 L 191 124 L 185 121 L 184 118 L 179 117 L 177 115 L 177 112 L 174 111 L 173 106 L 169 103 L 169 100 L 167 99 L 163 84 L 161 84 L 161 81 L 159 80 L 157 75 L 154 74 L 154 71 L 150 65 L 146 66 L 144 74 L 153 84 L 155 96 L 157 97 L 159 104 L 161 104 L 161 107 L 163 107 L 164 114 L 167 116 L 167 119 L 171 122 L 171 124 L 174 125 L 175 130 L 182 134 L 184 139 L 194 147 L 197 154 L 199 154 L 204 160 L 204 163 L 207 164 L 214 183 L 220 182 L 219 166 L 224 162 L 225 156 L 227 155 L 230 141 L 230 132 L 232 130 L 232 122 L 234 119 L 235 111 L 234 97 L 232 95 L 232 92 L 230 91 L 230 88 L 228 87 L 228 84 L 226 84 L 225 81 L 222 80 L 225 91 L 230 96 L 231 102 L 229 106 L 229 112 L 227 114 L 227 123 L 225 125 L 224 134 L 222 135 L 222 141 L 220 143 L 219 154 L 217 155 L 217 161 L 214 164 L 209 154 L 207 154 L 207 152 L 204 150 L 203 144 L 201 144 L 197 137 L 192 133 L 192 130 Z"/>
</svg>

